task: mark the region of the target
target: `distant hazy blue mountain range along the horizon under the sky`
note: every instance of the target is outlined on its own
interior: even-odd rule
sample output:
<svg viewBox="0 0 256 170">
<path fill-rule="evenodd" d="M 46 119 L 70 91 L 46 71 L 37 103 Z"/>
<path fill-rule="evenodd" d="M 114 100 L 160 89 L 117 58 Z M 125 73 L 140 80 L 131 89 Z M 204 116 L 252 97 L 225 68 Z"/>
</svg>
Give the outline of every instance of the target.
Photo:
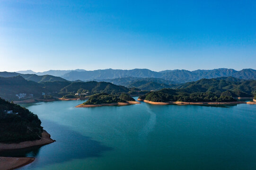
<svg viewBox="0 0 256 170">
<path fill-rule="evenodd" d="M 33 71 L 18 71 L 17 73 L 31 74 Z M 216 78 L 221 76 L 232 76 L 240 79 L 256 79 L 256 70 L 254 69 L 242 69 L 237 71 L 235 69 L 218 68 L 212 70 L 164 70 L 164 71 L 151 71 L 149 69 L 99 69 L 94 71 L 86 71 L 82 69 L 76 70 L 49 70 L 45 72 L 35 73 L 36 75 L 52 75 L 61 76 L 69 81 L 88 81 L 88 80 L 107 80 L 124 77 L 137 77 L 137 78 L 161 78 L 164 80 L 172 81 L 171 84 L 186 83 L 191 81 L 197 81 L 202 78 Z M 110 81 L 110 80 L 109 80 Z"/>
</svg>

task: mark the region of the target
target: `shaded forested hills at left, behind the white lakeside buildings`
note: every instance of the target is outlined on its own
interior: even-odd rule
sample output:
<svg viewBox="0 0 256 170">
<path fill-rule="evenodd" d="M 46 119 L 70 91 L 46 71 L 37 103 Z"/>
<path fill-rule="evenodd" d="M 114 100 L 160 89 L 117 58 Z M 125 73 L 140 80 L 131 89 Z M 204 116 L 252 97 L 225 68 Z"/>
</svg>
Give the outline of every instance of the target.
<svg viewBox="0 0 256 170">
<path fill-rule="evenodd" d="M 40 98 L 43 94 L 62 97 L 65 95 L 75 97 L 75 93 L 86 93 L 92 95 L 95 93 L 127 93 L 129 89 L 107 82 L 69 82 L 69 81 L 46 81 L 36 83 L 27 81 L 22 76 L 0 77 L 0 97 L 17 101 L 16 94 L 26 93 L 24 98 Z M 33 95 L 31 95 L 33 94 Z M 23 98 L 22 98 L 23 99 Z"/>
</svg>

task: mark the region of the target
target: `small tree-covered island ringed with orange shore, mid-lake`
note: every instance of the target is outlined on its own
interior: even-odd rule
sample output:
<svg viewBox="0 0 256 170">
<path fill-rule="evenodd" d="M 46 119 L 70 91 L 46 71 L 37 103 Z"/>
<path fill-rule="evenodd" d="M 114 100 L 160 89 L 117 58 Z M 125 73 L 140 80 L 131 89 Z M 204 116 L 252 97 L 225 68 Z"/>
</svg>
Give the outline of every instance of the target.
<svg viewBox="0 0 256 170">
<path fill-rule="evenodd" d="M 92 95 L 87 102 L 76 107 L 126 106 L 130 104 L 140 104 L 140 102 L 136 102 L 126 93 L 121 93 L 119 96 L 117 94 L 99 93 Z"/>
</svg>

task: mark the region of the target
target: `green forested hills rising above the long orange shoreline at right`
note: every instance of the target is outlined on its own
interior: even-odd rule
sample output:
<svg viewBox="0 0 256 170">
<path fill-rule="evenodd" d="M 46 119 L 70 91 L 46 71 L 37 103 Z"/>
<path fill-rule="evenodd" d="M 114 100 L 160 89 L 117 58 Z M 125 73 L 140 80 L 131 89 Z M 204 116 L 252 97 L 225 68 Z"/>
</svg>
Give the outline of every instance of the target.
<svg viewBox="0 0 256 170">
<path fill-rule="evenodd" d="M 253 97 L 256 94 L 256 80 L 221 77 L 201 79 L 174 88 L 150 92 L 140 99 L 152 102 L 233 102 L 236 97 Z"/>
</svg>

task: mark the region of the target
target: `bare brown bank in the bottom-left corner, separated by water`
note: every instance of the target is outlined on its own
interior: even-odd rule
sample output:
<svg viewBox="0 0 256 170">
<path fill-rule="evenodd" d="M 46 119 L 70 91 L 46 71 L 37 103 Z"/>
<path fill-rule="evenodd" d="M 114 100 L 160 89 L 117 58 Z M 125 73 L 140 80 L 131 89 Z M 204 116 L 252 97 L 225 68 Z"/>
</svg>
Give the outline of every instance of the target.
<svg viewBox="0 0 256 170">
<path fill-rule="evenodd" d="M 0 157 L 0 170 L 14 170 L 34 160 L 35 158 Z"/>
</svg>

